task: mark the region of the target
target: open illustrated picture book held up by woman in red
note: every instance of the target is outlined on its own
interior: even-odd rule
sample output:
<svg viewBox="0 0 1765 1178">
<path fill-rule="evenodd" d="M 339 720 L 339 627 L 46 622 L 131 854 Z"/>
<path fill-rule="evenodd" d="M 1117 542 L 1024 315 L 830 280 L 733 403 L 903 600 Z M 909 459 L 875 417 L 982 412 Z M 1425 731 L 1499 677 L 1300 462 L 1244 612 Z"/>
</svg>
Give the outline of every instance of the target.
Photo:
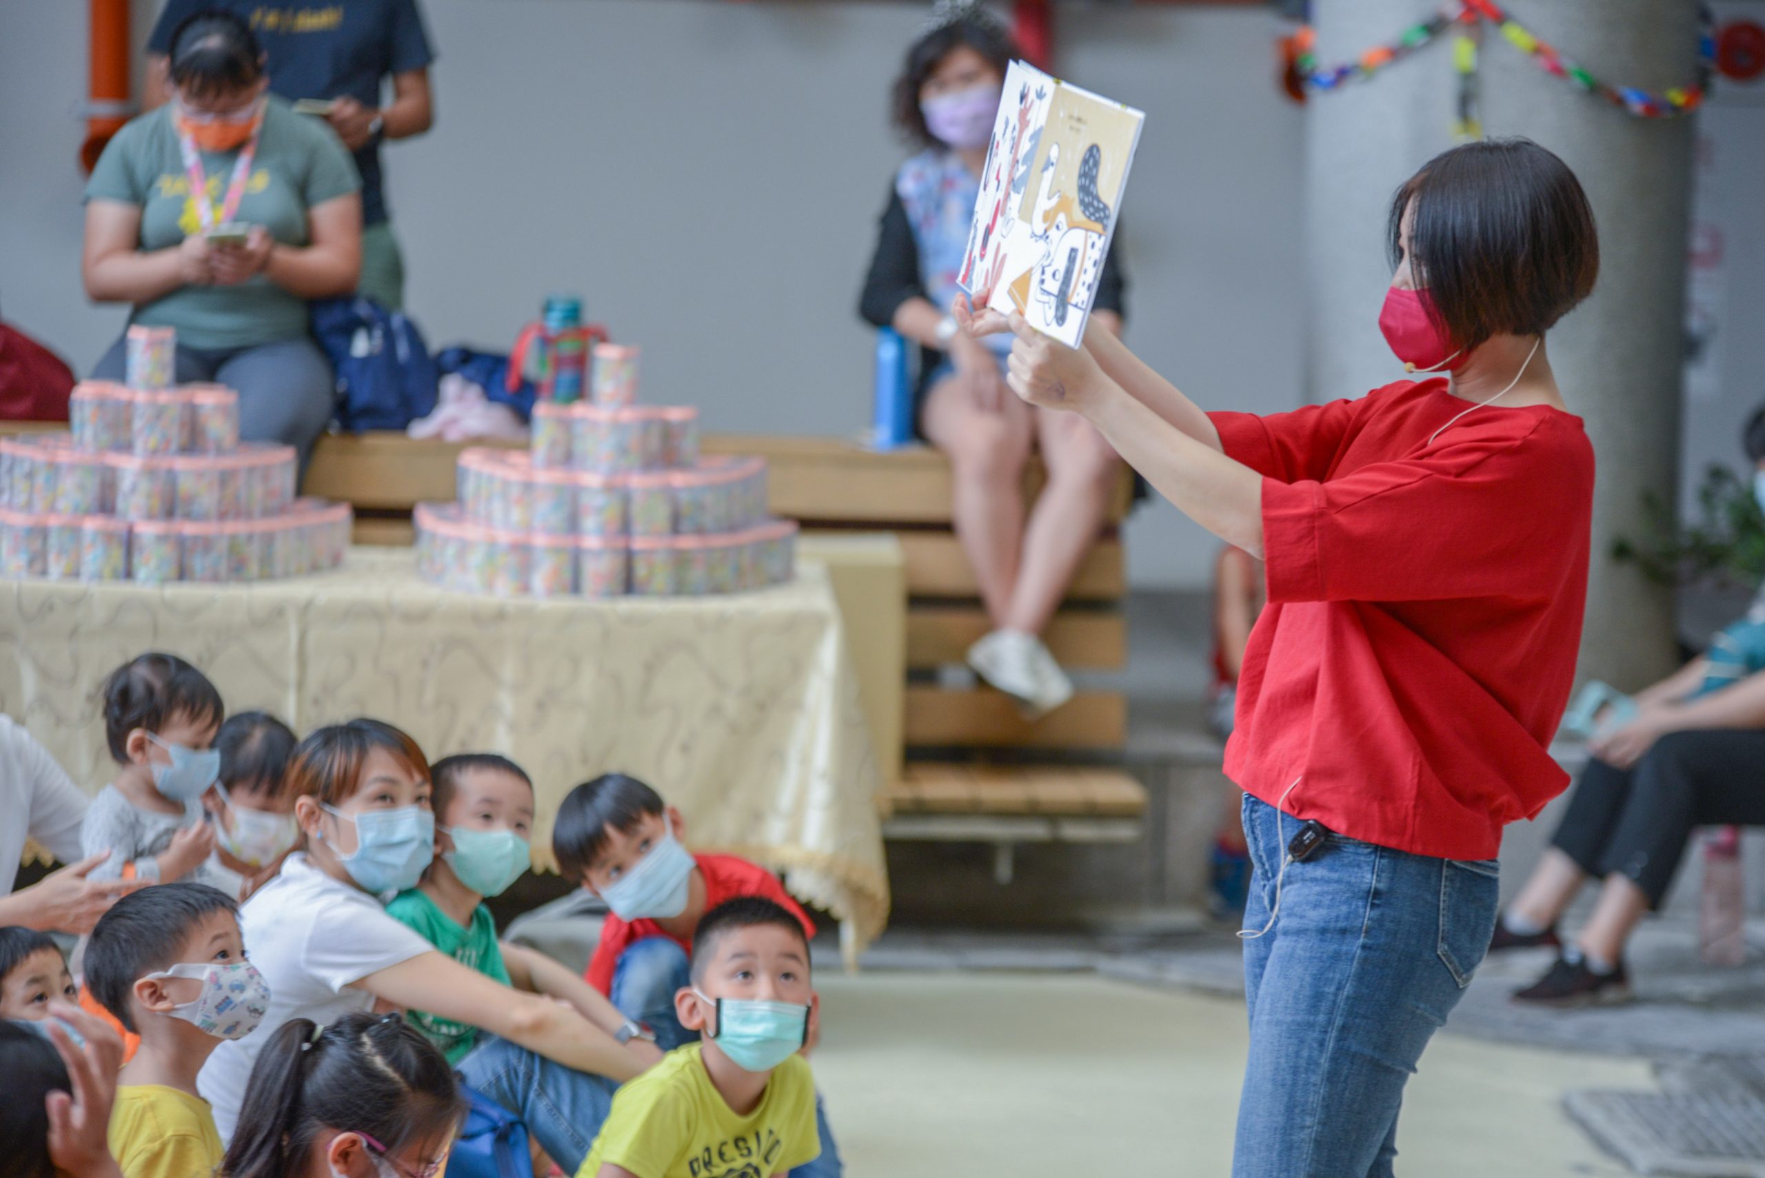
<svg viewBox="0 0 1765 1178">
<path fill-rule="evenodd" d="M 1145 115 L 1013 62 L 958 282 L 976 307 L 1084 339 Z"/>
</svg>

